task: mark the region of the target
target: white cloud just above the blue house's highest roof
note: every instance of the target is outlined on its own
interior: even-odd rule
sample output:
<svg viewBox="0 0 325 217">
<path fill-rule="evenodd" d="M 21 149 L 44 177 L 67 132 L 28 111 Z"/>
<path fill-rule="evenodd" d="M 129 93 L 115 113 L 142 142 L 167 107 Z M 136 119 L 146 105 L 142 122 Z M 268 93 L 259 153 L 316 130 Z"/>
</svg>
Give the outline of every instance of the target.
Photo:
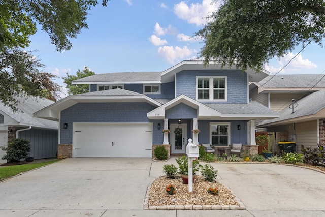
<svg viewBox="0 0 325 217">
<path fill-rule="evenodd" d="M 158 49 L 159 55 L 171 64 L 175 64 L 175 61 L 179 62 L 185 58 L 188 58 L 193 54 L 193 52 L 196 51 L 189 49 L 186 46 L 184 46 L 183 48 L 180 48 L 178 46 L 176 46 L 175 48 L 173 46 L 164 46 L 159 47 Z"/>
</svg>

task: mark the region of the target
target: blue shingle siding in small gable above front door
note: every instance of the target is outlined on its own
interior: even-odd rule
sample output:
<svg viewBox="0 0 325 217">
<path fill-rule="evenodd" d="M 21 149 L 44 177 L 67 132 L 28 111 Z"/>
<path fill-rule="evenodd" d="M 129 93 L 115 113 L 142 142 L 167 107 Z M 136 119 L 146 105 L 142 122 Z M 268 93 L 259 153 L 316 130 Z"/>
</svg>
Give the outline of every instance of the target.
<svg viewBox="0 0 325 217">
<path fill-rule="evenodd" d="M 178 105 L 165 111 L 165 118 L 168 119 L 187 119 L 196 117 L 197 110 L 185 105 L 184 103 L 179 103 Z"/>
</svg>

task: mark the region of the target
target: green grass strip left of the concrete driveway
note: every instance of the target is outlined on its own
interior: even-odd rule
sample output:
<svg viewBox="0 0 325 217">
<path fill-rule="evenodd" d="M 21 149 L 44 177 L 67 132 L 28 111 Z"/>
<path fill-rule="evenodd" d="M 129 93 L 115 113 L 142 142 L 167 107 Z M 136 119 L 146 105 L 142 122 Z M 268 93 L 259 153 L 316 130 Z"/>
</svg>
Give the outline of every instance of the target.
<svg viewBox="0 0 325 217">
<path fill-rule="evenodd" d="M 0 168 L 0 181 L 12 176 L 15 176 L 21 172 L 26 172 L 32 169 L 36 169 L 48 164 L 52 164 L 54 162 L 57 162 L 60 160 L 53 160 L 53 161 L 47 161 L 47 162 L 41 162 L 41 163 L 35 163 L 35 164 L 23 164 L 23 165 L 15 165 L 15 166 L 6 166 Z"/>
</svg>

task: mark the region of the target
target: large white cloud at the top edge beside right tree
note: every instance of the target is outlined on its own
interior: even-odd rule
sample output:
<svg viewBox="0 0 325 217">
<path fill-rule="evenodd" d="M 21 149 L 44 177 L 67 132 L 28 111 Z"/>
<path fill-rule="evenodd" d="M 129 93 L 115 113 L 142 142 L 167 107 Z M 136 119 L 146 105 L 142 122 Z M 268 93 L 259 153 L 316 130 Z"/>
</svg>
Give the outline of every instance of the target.
<svg viewBox="0 0 325 217">
<path fill-rule="evenodd" d="M 213 3 L 211 0 L 203 0 L 202 4 L 192 3 L 188 6 L 184 1 L 174 5 L 174 13 L 180 19 L 197 26 L 206 24 L 206 17 L 213 11 L 217 11 L 219 3 Z"/>
</svg>

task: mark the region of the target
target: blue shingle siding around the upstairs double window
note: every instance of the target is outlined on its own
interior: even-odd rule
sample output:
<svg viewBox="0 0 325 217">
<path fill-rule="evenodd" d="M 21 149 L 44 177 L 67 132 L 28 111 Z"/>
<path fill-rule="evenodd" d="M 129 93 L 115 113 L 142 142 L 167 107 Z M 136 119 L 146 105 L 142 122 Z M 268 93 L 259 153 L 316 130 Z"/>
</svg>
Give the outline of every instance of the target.
<svg viewBox="0 0 325 217">
<path fill-rule="evenodd" d="M 247 73 L 241 70 L 184 70 L 176 75 L 176 95 L 196 99 L 196 76 L 227 76 L 228 101 L 217 103 L 247 103 Z M 207 102 L 210 103 L 210 102 Z M 216 103 L 216 102 L 211 102 Z"/>
</svg>

